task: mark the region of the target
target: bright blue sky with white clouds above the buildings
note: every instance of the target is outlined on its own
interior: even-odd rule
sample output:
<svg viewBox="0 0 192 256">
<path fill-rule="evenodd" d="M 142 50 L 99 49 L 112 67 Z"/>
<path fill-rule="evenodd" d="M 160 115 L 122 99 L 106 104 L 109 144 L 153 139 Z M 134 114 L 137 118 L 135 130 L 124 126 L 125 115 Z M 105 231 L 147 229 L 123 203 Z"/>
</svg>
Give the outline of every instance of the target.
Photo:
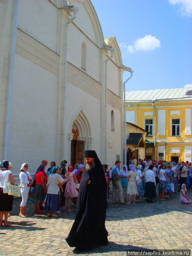
<svg viewBox="0 0 192 256">
<path fill-rule="evenodd" d="M 192 87 L 192 0 L 91 2 L 103 36 L 116 37 L 134 71 L 126 91 Z"/>
</svg>

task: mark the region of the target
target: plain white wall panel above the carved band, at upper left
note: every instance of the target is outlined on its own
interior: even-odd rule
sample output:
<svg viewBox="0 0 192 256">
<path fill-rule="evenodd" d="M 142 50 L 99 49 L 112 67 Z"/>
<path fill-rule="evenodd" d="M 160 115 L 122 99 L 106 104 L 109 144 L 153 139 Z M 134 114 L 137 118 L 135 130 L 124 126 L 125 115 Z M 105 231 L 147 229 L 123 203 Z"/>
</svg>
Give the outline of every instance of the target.
<svg viewBox="0 0 192 256">
<path fill-rule="evenodd" d="M 58 14 L 48 0 L 19 0 L 18 26 L 56 51 Z"/>
</svg>

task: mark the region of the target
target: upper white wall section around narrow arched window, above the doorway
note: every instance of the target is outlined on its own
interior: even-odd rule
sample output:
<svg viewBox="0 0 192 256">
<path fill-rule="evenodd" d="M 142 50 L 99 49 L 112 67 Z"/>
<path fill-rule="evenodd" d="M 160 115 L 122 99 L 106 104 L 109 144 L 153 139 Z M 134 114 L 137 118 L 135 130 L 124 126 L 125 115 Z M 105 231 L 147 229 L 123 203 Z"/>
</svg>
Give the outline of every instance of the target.
<svg viewBox="0 0 192 256">
<path fill-rule="evenodd" d="M 99 80 L 99 48 L 95 44 L 93 44 L 93 42 L 91 42 L 90 39 L 87 38 L 76 26 L 74 26 L 73 24 L 69 24 L 67 50 L 68 60 L 80 69 L 82 57 L 82 42 L 86 44 L 85 72 L 94 79 Z"/>
</svg>

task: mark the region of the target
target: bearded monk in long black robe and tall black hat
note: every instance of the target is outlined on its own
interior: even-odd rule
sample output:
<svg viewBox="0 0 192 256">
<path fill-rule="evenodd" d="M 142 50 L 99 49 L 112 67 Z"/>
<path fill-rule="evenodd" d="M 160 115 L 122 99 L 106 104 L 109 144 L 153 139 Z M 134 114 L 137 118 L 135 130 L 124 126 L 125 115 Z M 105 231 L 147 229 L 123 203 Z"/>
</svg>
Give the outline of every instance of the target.
<svg viewBox="0 0 192 256">
<path fill-rule="evenodd" d="M 74 252 L 87 251 L 108 245 L 106 218 L 106 178 L 101 162 L 94 150 L 84 151 L 86 166 L 79 185 L 75 222 L 65 239 Z"/>
</svg>

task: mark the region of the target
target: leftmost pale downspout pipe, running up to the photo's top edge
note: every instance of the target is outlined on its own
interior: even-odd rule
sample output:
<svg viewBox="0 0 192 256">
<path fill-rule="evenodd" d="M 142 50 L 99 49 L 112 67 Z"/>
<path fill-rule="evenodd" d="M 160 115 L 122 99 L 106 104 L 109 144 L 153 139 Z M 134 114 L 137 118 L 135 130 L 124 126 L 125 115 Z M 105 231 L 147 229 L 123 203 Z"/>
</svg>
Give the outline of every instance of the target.
<svg viewBox="0 0 192 256">
<path fill-rule="evenodd" d="M 19 0 L 15 0 L 14 10 L 14 23 L 13 23 L 13 34 L 11 44 L 11 63 L 10 63 L 10 76 L 9 76 L 9 87 L 7 97 L 7 117 L 5 121 L 5 150 L 4 159 L 9 158 L 9 143 L 10 143 L 10 121 L 11 121 L 11 102 L 12 102 L 12 90 L 13 90 L 13 77 L 14 77 L 14 63 L 15 63 L 15 46 L 16 46 L 16 32 L 17 32 L 17 19 L 18 19 L 18 6 Z"/>
</svg>

